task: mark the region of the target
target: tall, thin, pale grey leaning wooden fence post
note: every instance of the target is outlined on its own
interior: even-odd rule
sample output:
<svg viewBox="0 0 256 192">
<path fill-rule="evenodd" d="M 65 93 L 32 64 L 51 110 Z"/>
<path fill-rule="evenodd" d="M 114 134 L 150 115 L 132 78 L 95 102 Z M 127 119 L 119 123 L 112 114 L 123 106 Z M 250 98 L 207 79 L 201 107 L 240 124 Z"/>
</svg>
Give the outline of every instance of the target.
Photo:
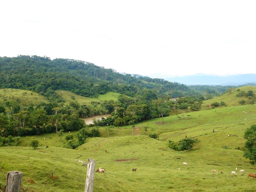
<svg viewBox="0 0 256 192">
<path fill-rule="evenodd" d="M 95 173 L 95 160 L 89 158 L 84 192 L 93 192 L 93 181 Z"/>
</svg>

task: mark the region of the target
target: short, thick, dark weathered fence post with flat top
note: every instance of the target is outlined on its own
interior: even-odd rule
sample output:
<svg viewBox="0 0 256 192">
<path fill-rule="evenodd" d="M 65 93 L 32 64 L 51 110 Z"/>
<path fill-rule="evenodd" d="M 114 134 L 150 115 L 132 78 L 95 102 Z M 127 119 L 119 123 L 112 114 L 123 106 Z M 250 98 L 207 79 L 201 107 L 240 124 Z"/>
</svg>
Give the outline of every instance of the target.
<svg viewBox="0 0 256 192">
<path fill-rule="evenodd" d="M 5 192 L 20 192 L 22 172 L 10 171 L 7 173 L 7 184 Z"/>
</svg>

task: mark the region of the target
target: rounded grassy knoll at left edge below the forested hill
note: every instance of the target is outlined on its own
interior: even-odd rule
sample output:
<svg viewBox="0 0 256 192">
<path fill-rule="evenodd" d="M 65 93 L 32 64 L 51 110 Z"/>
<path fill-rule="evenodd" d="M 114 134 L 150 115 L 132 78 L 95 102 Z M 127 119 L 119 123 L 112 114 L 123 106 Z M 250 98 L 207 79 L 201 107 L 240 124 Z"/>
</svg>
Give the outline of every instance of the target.
<svg viewBox="0 0 256 192">
<path fill-rule="evenodd" d="M 32 93 L 32 94 L 31 94 Z M 0 101 L 19 100 L 19 104 L 28 106 L 29 104 L 38 104 L 48 102 L 47 99 L 36 92 L 21 89 L 0 89 Z"/>
</svg>

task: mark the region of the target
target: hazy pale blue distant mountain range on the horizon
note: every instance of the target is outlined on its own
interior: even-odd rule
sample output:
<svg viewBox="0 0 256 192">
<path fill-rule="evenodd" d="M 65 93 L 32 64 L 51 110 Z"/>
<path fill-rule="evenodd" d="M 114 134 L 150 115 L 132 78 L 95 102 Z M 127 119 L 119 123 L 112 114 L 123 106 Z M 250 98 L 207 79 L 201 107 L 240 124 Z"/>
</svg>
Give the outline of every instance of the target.
<svg viewBox="0 0 256 192">
<path fill-rule="evenodd" d="M 243 85 L 256 83 L 256 74 L 240 74 L 230 76 L 191 75 L 183 77 L 164 78 L 167 81 L 186 85 Z"/>
</svg>

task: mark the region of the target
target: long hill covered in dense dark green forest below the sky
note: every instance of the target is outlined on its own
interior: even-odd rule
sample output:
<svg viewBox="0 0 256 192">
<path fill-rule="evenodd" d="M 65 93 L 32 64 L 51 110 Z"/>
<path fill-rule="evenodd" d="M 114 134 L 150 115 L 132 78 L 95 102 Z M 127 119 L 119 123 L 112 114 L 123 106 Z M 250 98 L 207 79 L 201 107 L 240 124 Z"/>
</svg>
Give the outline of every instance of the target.
<svg viewBox="0 0 256 192">
<path fill-rule="evenodd" d="M 0 88 L 47 92 L 63 89 L 85 97 L 114 91 L 133 96 L 140 91 L 178 97 L 191 90 L 184 84 L 147 76 L 121 74 L 92 63 L 49 57 L 0 57 Z M 146 89 L 145 89 L 146 88 Z M 149 89 L 149 90 L 148 90 Z"/>
</svg>

